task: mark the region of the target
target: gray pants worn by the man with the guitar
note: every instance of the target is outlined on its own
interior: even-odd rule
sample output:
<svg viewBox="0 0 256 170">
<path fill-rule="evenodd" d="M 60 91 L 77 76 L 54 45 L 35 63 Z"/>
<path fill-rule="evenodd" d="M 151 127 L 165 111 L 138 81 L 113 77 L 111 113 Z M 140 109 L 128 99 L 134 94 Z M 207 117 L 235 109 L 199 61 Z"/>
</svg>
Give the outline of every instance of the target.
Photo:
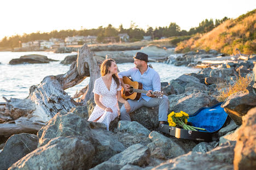
<svg viewBox="0 0 256 170">
<path fill-rule="evenodd" d="M 128 99 L 127 101 L 131 106 L 131 110 L 129 113 L 136 111 L 138 108 L 141 108 L 142 106 L 146 106 L 146 107 L 159 106 L 158 120 L 167 122 L 169 100 L 166 95 L 162 96 L 162 98 L 151 98 L 149 101 L 146 101 L 144 99 L 141 99 L 139 101 Z M 129 113 L 126 112 L 126 109 L 123 105 L 120 109 L 120 114 L 121 114 L 120 119 L 131 121 Z"/>
</svg>

